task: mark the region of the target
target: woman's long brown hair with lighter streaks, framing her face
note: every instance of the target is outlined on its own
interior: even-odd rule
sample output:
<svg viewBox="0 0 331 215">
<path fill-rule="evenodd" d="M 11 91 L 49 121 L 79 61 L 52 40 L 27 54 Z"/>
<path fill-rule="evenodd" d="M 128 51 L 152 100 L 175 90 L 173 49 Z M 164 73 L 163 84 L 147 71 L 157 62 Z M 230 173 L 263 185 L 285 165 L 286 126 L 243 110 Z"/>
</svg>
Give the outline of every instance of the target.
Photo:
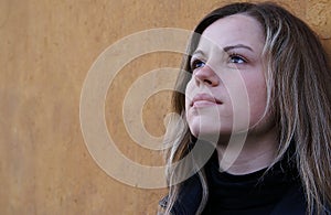
<svg viewBox="0 0 331 215">
<path fill-rule="evenodd" d="M 331 203 L 331 75 L 327 54 L 313 31 L 300 19 L 275 3 L 233 3 L 207 14 L 194 29 L 183 57 L 175 90 L 173 111 L 181 116 L 166 141 L 172 141 L 167 153 L 168 166 L 188 154 L 192 133 L 185 123 L 185 90 L 192 73 L 191 54 L 204 30 L 218 19 L 246 14 L 256 19 L 265 34 L 263 57 L 266 58 L 267 107 L 275 115 L 279 148 L 275 164 L 295 144 L 295 158 L 307 200 L 309 214 L 322 213 Z M 184 123 L 183 123 L 184 122 Z M 271 165 L 273 165 L 271 164 Z M 168 168 L 169 203 L 171 211 L 183 183 L 177 183 L 175 169 Z M 196 170 L 203 187 L 197 214 L 207 201 L 204 170 Z"/>
</svg>

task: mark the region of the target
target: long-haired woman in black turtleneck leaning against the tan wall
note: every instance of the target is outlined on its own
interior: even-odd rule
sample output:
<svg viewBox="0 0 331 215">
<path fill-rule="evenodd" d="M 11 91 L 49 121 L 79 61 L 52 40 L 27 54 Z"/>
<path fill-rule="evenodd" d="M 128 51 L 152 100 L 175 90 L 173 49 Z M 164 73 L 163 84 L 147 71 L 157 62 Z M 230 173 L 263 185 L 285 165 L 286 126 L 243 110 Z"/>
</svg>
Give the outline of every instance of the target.
<svg viewBox="0 0 331 215">
<path fill-rule="evenodd" d="M 225 6 L 194 32 L 173 94 L 181 119 L 166 140 L 161 209 L 330 213 L 331 71 L 318 37 L 273 3 Z"/>
</svg>

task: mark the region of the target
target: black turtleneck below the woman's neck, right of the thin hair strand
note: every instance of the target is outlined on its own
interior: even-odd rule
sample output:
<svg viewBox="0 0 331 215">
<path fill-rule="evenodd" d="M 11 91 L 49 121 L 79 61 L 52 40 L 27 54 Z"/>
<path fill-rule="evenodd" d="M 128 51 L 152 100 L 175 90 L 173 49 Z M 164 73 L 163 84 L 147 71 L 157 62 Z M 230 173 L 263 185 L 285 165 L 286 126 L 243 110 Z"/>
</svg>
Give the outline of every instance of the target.
<svg viewBox="0 0 331 215">
<path fill-rule="evenodd" d="M 267 173 L 264 169 L 233 175 L 220 172 L 217 158 L 214 157 L 205 166 L 205 173 L 210 195 L 203 214 L 278 214 L 275 211 L 285 197 L 293 193 L 293 187 L 296 194 L 300 193 L 298 173 L 285 161 L 275 164 Z"/>
</svg>

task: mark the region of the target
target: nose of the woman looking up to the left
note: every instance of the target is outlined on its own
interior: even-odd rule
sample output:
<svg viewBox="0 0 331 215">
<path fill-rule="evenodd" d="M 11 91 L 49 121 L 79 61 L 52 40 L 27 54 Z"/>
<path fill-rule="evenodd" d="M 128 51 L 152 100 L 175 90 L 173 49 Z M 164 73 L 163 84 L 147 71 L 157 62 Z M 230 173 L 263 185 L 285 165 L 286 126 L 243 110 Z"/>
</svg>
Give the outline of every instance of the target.
<svg viewBox="0 0 331 215">
<path fill-rule="evenodd" d="M 201 84 L 209 86 L 217 86 L 220 84 L 220 77 L 209 65 L 205 65 L 194 71 L 193 76 L 197 86 Z"/>
</svg>

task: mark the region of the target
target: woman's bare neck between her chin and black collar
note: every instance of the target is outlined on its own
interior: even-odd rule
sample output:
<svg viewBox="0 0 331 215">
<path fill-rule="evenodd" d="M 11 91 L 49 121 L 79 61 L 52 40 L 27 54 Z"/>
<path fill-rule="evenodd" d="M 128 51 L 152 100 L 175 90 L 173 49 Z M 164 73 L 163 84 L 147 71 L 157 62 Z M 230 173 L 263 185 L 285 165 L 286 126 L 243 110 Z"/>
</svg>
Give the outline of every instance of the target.
<svg viewBox="0 0 331 215">
<path fill-rule="evenodd" d="M 248 174 L 269 166 L 278 148 L 276 129 L 263 135 L 233 136 L 227 144 L 217 144 L 221 171 Z"/>
</svg>

